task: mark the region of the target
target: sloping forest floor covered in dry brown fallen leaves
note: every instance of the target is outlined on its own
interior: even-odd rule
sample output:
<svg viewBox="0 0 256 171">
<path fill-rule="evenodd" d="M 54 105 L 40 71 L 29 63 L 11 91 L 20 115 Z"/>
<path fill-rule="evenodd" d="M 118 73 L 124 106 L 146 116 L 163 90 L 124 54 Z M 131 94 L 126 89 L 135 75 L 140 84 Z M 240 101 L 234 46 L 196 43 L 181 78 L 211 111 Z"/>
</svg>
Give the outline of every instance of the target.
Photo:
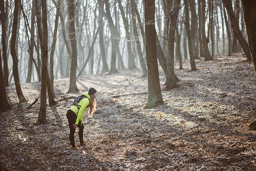
<svg viewBox="0 0 256 171">
<path fill-rule="evenodd" d="M 147 91 L 141 71 L 79 77 L 74 95 L 97 89 L 97 111 L 84 115 L 86 145 L 71 148 L 66 112 L 73 99 L 47 107 L 47 123 L 36 124 L 40 83 L 21 84 L 28 102 L 20 104 L 15 86 L 7 88 L 12 105 L 0 114 L 0 162 L 10 170 L 255 170 L 256 85 L 252 63 L 245 56 L 196 59 L 176 75 L 180 87 L 164 91 L 164 104 L 144 109 L 147 94 L 109 97 Z M 69 79 L 55 80 L 59 99 Z M 78 132 L 75 133 L 79 144 Z"/>
</svg>

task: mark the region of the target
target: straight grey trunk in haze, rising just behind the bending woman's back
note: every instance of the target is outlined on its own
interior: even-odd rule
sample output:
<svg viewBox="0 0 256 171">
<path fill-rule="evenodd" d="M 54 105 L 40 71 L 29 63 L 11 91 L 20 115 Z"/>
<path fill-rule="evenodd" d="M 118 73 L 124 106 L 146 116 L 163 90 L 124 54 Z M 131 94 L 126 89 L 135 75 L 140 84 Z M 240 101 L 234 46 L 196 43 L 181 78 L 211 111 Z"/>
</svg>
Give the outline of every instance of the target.
<svg viewBox="0 0 256 171">
<path fill-rule="evenodd" d="M 70 21 L 69 33 L 71 44 L 71 65 L 70 65 L 70 88 L 67 93 L 77 92 L 76 87 L 76 68 L 78 67 L 78 50 L 76 47 L 76 33 L 75 33 L 75 2 L 68 0 L 68 20 Z"/>
</svg>

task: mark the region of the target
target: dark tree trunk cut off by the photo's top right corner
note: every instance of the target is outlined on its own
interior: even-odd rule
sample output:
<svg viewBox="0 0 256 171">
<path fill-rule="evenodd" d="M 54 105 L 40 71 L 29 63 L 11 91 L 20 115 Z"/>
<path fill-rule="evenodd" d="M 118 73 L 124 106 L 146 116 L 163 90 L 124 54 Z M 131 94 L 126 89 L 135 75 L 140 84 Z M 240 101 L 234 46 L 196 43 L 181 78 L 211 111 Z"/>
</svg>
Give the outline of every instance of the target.
<svg viewBox="0 0 256 171">
<path fill-rule="evenodd" d="M 253 58 L 254 75 L 256 82 L 256 1 L 242 0 L 242 6 L 243 18 L 245 19 L 247 36 L 250 45 L 250 52 Z"/>
</svg>

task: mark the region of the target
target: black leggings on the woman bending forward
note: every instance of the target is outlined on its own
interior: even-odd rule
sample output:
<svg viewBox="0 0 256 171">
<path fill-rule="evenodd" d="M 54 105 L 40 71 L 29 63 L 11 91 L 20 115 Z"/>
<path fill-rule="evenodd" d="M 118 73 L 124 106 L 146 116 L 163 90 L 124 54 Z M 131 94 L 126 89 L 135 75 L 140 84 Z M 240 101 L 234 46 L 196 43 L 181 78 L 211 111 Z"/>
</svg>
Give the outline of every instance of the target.
<svg viewBox="0 0 256 171">
<path fill-rule="evenodd" d="M 68 119 L 68 126 L 70 127 L 70 143 L 73 147 L 75 147 L 75 138 L 74 138 L 74 134 L 75 134 L 75 128 L 73 127 L 73 124 L 75 124 L 76 122 L 76 113 L 71 111 L 71 109 L 69 109 L 67 111 L 67 119 Z M 79 140 L 80 140 L 80 144 L 83 144 L 83 131 L 84 131 L 84 125 L 81 125 L 81 121 L 79 121 L 78 123 L 78 135 L 79 135 Z"/>
</svg>

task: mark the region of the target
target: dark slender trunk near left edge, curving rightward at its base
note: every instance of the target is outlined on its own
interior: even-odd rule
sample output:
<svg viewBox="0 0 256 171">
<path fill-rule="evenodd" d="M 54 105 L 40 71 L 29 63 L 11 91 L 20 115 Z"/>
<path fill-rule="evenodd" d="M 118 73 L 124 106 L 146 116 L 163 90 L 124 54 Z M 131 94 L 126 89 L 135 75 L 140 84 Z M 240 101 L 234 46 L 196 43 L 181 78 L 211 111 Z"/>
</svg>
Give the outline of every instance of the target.
<svg viewBox="0 0 256 171">
<path fill-rule="evenodd" d="M 14 7 L 14 18 L 13 18 L 13 32 L 11 34 L 11 56 L 13 57 L 13 76 L 16 87 L 16 92 L 19 98 L 19 103 L 27 101 L 23 95 L 21 89 L 21 83 L 19 82 L 18 74 L 18 56 L 15 50 L 16 36 L 17 36 L 17 27 L 18 27 L 18 13 L 19 13 L 19 1 L 15 1 Z"/>
</svg>

